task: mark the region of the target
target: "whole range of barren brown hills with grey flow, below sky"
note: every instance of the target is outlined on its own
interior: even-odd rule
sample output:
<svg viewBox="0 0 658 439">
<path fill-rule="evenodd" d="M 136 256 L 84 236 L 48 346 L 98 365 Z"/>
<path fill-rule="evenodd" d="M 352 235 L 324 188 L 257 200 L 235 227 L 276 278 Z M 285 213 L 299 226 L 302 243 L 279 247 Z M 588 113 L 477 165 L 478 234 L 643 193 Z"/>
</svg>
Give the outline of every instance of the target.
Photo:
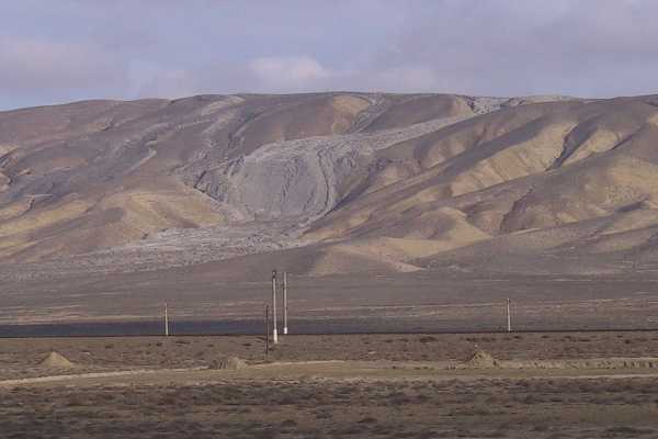
<svg viewBox="0 0 658 439">
<path fill-rule="evenodd" d="M 657 213 L 657 97 L 200 95 L 0 113 L 4 277 L 609 272 L 654 263 Z"/>
</svg>

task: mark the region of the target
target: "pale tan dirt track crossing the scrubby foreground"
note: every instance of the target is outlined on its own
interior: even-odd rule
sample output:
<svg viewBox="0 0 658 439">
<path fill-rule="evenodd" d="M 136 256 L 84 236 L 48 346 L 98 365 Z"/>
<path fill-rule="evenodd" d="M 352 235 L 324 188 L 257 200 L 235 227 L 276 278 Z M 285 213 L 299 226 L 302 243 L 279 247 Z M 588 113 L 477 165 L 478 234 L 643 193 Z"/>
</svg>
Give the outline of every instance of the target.
<svg viewBox="0 0 658 439">
<path fill-rule="evenodd" d="M 635 359 L 619 359 L 634 363 Z M 208 368 L 188 369 L 137 369 L 112 372 L 84 372 L 49 370 L 48 375 L 2 380 L 0 387 L 16 386 L 94 386 L 94 385 L 136 385 L 136 384 L 208 384 L 240 381 L 321 381 L 321 382 L 373 382 L 373 381 L 473 381 L 497 380 L 627 380 L 658 379 L 654 367 L 601 367 L 600 362 L 571 360 L 570 364 L 553 362 L 551 367 L 533 368 L 508 362 L 503 367 L 474 368 L 431 362 L 383 362 L 383 361 L 299 361 L 248 365 L 241 371 L 214 370 Z M 646 361 L 646 359 L 645 359 Z M 651 359 L 658 362 L 658 359 Z M 586 364 L 594 367 L 587 368 Z"/>
</svg>

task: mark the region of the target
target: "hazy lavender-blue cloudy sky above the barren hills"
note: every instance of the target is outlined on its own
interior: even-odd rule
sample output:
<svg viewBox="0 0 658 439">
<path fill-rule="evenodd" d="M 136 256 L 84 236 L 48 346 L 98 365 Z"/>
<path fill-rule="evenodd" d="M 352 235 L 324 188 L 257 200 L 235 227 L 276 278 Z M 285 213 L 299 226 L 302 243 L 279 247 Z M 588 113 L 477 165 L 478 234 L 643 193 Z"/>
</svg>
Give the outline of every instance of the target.
<svg viewBox="0 0 658 439">
<path fill-rule="evenodd" d="M 658 92 L 658 0 L 0 0 L 0 110 L 308 91 Z"/>
</svg>

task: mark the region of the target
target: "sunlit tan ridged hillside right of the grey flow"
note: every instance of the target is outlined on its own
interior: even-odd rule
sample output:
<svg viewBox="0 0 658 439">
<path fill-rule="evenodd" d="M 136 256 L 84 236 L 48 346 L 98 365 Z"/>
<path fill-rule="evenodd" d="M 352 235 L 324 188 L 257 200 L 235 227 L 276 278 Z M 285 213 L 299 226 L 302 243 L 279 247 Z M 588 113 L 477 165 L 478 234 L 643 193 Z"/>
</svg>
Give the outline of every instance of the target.
<svg viewBox="0 0 658 439">
<path fill-rule="evenodd" d="M 382 151 L 373 184 L 307 236 L 408 241 L 400 260 L 418 268 L 446 251 L 464 263 L 570 247 L 646 254 L 658 225 L 657 114 L 654 98 L 638 98 L 525 105 L 454 124 Z"/>
</svg>

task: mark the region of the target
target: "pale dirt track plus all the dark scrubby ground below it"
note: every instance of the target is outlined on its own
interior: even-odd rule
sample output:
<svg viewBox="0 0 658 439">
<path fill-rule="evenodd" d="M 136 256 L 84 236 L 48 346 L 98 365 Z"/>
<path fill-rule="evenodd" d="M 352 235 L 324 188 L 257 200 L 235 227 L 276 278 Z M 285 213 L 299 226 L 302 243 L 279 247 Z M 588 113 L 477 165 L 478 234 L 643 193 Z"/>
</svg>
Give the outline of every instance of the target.
<svg viewBox="0 0 658 439">
<path fill-rule="evenodd" d="M 653 369 L 320 361 L 0 382 L 7 438 L 655 437 Z"/>
</svg>

